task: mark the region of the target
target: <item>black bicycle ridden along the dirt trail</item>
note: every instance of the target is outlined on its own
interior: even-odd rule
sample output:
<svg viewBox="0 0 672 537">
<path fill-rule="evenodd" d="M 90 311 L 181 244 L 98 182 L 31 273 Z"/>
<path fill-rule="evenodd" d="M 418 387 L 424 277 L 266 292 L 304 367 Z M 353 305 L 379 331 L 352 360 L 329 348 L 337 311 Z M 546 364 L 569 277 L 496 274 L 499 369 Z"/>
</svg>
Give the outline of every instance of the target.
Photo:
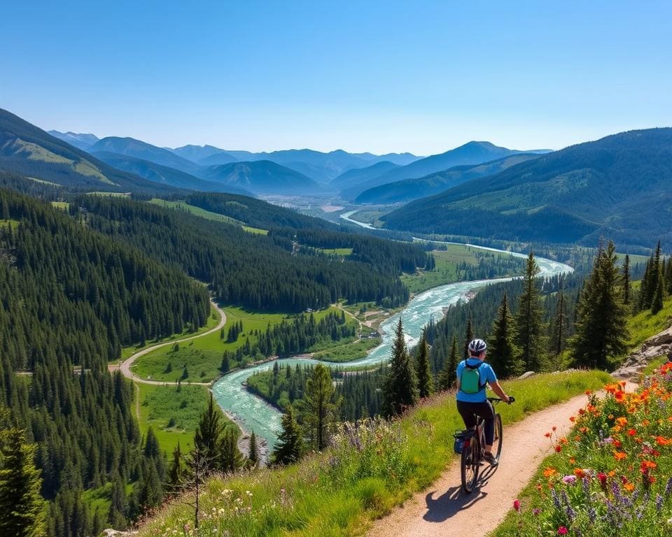
<svg viewBox="0 0 672 537">
<path fill-rule="evenodd" d="M 503 401 L 496 397 L 488 397 L 488 401 L 494 405 Z M 513 403 L 515 399 L 509 397 L 509 404 Z M 485 422 L 481 417 L 477 417 L 475 429 L 465 429 L 458 431 L 453 436 L 456 441 L 462 441 L 461 460 L 460 460 L 460 474 L 462 478 L 462 489 L 466 494 L 472 492 L 478 480 L 478 473 L 483 462 L 483 454 L 485 452 Z M 502 417 L 495 414 L 495 437 L 492 443 L 492 454 L 497 462 L 499 462 L 500 454 L 502 453 Z"/>
</svg>

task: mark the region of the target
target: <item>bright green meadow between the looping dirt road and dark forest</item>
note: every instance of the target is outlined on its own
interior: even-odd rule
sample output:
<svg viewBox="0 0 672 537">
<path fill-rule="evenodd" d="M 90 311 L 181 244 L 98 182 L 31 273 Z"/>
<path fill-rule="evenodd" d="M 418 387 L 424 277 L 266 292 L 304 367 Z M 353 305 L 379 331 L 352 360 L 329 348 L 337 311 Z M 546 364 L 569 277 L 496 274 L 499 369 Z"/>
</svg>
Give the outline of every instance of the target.
<svg viewBox="0 0 672 537">
<path fill-rule="evenodd" d="M 335 311 L 335 308 L 314 312 L 315 320 L 319 321 L 330 311 Z M 259 330 L 263 333 L 269 324 L 279 324 L 291 317 L 283 313 L 255 313 L 232 306 L 225 308 L 225 314 L 225 334 L 232 324 L 239 321 L 243 323 L 243 331 L 234 343 L 226 343 L 225 339 L 220 338 L 220 332 L 216 331 L 214 334 L 180 343 L 177 351 L 173 350 L 172 345 L 167 345 L 140 357 L 132 366 L 133 373 L 140 378 L 151 376 L 152 380 L 176 382 L 182 375 L 183 367 L 186 366 L 189 376 L 183 382 L 210 382 L 221 374 L 219 368 L 225 350 L 230 352 L 237 350 L 245 345 L 248 337 L 250 345 L 254 345 L 257 337 L 250 335 L 251 331 Z M 172 365 L 172 371 L 167 373 L 169 363 Z"/>
</svg>

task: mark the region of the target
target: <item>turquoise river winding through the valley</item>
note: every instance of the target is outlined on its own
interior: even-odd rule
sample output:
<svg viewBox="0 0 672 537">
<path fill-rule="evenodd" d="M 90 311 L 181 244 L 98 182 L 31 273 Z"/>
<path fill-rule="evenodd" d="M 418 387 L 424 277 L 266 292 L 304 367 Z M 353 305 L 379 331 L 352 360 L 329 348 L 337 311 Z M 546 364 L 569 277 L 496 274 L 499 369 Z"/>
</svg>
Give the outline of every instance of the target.
<svg viewBox="0 0 672 537">
<path fill-rule="evenodd" d="M 352 213 L 344 213 L 342 217 L 350 222 L 362 225 L 361 222 L 350 220 L 349 216 L 351 214 Z M 481 248 L 483 250 L 503 252 L 503 250 L 496 250 L 494 248 L 482 248 L 475 245 L 470 246 L 473 248 Z M 504 253 L 510 253 L 515 257 L 522 257 L 524 259 L 527 258 L 527 255 L 515 252 Z M 550 276 L 573 271 L 573 268 L 566 264 L 541 257 L 535 259 L 540 268 L 540 276 Z M 433 287 L 433 289 L 418 294 L 409 301 L 407 306 L 400 313 L 391 315 L 381 323 L 379 331 L 381 331 L 382 334 L 382 343 L 369 352 L 365 358 L 353 360 L 347 364 L 329 364 L 324 361 L 303 358 L 286 358 L 277 361 L 283 366 L 294 366 L 295 364 L 325 364 L 334 367 L 338 365 L 340 368 L 348 366 L 374 366 L 374 364 L 379 364 L 381 361 L 386 361 L 390 358 L 394 338 L 394 327 L 400 315 L 404 325 L 406 341 L 407 343 L 412 344 L 419 338 L 421 330 L 430 319 L 439 320 L 443 316 L 444 308 L 447 306 L 451 306 L 460 300 L 468 300 L 470 292 L 481 287 L 485 287 L 486 285 L 495 282 L 509 281 L 511 279 L 512 278 L 496 278 L 493 280 L 456 282 Z M 249 376 L 253 375 L 253 373 L 269 370 L 273 367 L 273 364 L 274 362 L 267 362 L 258 366 L 234 371 L 217 380 L 212 387 L 214 397 L 223 410 L 235 419 L 242 429 L 245 431 L 253 430 L 257 436 L 265 438 L 269 446 L 274 445 L 277 435 L 279 434 L 279 431 L 281 431 L 281 413 L 258 396 L 248 392 L 244 387 L 244 382 Z"/>
</svg>

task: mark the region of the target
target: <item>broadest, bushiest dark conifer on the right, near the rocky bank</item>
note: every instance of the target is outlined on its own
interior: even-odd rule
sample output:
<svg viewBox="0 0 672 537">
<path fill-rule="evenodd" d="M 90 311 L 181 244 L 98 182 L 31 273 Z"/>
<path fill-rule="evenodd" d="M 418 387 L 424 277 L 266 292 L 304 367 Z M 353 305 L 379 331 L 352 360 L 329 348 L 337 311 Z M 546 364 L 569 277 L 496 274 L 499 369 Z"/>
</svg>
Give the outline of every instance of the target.
<svg viewBox="0 0 672 537">
<path fill-rule="evenodd" d="M 612 242 L 596 255 L 577 306 L 576 331 L 570 340 L 575 365 L 610 368 L 627 351 L 626 307 L 622 276 Z"/>
</svg>

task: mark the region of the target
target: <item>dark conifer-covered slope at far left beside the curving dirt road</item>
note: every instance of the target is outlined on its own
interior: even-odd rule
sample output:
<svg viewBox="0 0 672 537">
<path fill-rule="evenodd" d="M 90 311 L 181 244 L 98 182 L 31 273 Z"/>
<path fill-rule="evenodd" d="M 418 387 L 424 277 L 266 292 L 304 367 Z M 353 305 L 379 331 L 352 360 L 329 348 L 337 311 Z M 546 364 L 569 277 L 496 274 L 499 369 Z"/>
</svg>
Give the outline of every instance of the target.
<svg viewBox="0 0 672 537">
<path fill-rule="evenodd" d="M 162 458 L 141 450 L 132 387 L 107 364 L 208 315 L 206 289 L 181 271 L 0 189 L 0 407 L 37 444 L 50 536 L 122 526 L 160 501 Z M 89 510 L 81 493 L 106 484 L 112 508 Z"/>
</svg>

